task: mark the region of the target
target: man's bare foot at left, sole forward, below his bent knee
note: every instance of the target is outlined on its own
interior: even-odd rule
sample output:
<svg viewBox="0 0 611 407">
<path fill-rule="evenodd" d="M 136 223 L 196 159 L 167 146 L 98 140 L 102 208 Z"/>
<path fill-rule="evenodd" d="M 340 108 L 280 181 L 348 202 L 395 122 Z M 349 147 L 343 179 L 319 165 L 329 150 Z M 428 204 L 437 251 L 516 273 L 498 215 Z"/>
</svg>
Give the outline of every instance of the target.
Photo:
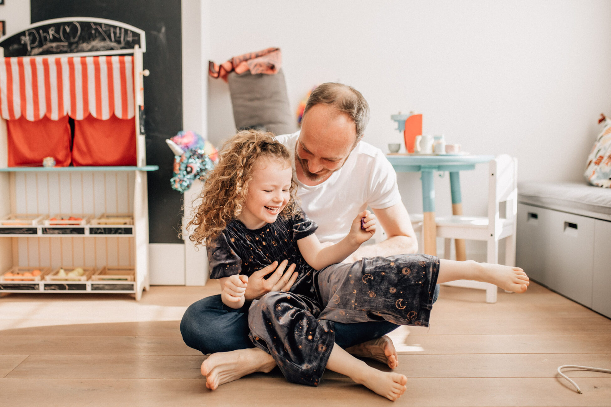
<svg viewBox="0 0 611 407">
<path fill-rule="evenodd" d="M 216 390 L 221 384 L 238 380 L 254 372 L 271 372 L 276 361 L 259 348 L 218 352 L 208 356 L 202 363 L 202 375 L 206 376 L 206 387 Z"/>
</svg>

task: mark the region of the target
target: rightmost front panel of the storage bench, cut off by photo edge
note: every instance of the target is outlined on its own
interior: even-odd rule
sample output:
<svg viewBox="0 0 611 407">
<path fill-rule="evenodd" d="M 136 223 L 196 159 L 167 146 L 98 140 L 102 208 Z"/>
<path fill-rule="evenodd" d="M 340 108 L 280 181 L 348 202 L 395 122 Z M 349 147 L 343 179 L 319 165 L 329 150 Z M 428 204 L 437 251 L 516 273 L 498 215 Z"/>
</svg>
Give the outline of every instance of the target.
<svg viewBox="0 0 611 407">
<path fill-rule="evenodd" d="M 594 220 L 592 309 L 611 318 L 611 222 Z"/>
</svg>

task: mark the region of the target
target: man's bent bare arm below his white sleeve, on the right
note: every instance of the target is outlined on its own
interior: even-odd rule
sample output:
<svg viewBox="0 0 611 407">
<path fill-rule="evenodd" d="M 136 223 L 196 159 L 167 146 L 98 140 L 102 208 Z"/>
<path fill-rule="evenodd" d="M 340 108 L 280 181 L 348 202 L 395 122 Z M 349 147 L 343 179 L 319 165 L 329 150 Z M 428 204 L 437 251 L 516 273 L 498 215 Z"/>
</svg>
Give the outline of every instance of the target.
<svg viewBox="0 0 611 407">
<path fill-rule="evenodd" d="M 373 213 L 378 219 L 378 225 L 386 232 L 387 239 L 373 245 L 361 246 L 343 262 L 355 262 L 364 257 L 392 256 L 418 251 L 418 240 L 403 202 L 384 209 L 373 209 Z"/>
</svg>

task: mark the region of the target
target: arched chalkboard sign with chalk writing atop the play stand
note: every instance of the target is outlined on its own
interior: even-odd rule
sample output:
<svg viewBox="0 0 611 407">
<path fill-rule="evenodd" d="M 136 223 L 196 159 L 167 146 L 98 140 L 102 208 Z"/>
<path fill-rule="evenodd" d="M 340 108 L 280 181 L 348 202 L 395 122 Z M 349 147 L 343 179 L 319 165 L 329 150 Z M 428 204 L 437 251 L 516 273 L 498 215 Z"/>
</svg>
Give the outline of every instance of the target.
<svg viewBox="0 0 611 407">
<path fill-rule="evenodd" d="M 6 38 L 0 46 L 5 57 L 95 52 L 114 54 L 138 45 L 145 50 L 144 32 L 128 24 L 102 18 L 58 18 L 32 24 Z"/>
</svg>

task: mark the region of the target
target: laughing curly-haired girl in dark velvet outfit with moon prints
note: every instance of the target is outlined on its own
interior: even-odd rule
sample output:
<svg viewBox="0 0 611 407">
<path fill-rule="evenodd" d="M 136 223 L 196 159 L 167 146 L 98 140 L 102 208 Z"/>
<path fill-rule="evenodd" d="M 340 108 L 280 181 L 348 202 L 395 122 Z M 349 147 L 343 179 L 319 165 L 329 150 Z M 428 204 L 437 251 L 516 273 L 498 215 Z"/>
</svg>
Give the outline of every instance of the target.
<svg viewBox="0 0 611 407">
<path fill-rule="evenodd" d="M 290 290 L 252 301 L 248 314 L 251 340 L 287 380 L 317 386 L 327 368 L 396 400 L 406 376 L 374 369 L 335 345 L 333 322 L 428 326 L 436 283 L 477 279 L 514 292 L 529 285 L 521 268 L 424 254 L 340 264 L 373 236 L 375 216 L 361 212 L 345 239 L 323 247 L 295 190 L 287 149 L 270 133 L 242 131 L 222 149 L 188 225 L 196 226 L 191 240 L 207 243 L 211 278 L 220 279 L 230 308 L 244 305 L 249 275 L 279 259 L 293 264 Z"/>
</svg>

